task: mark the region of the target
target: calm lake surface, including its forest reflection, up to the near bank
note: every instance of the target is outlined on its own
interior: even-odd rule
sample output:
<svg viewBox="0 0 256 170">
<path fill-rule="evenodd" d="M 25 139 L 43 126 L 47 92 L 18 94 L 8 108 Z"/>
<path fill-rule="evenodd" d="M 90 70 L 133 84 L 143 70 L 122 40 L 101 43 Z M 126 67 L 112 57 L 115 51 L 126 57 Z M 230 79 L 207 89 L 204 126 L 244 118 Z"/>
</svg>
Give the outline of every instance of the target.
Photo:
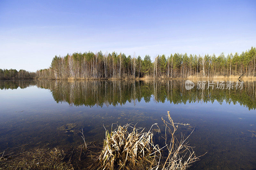
<svg viewBox="0 0 256 170">
<path fill-rule="evenodd" d="M 0 81 L 0 152 L 24 144 L 79 145 L 82 128 L 86 142 L 103 141 L 112 123 L 158 123 L 163 133 L 161 117 L 171 111 L 174 122 L 190 124 L 180 127 L 182 134 L 195 128 L 189 143 L 196 155 L 207 152 L 191 169 L 256 169 L 256 137 L 250 132 L 256 131 L 256 82 L 245 81 L 243 89 L 207 85 L 186 90 L 185 80 Z M 67 123 L 77 126 L 58 130 Z"/>
</svg>

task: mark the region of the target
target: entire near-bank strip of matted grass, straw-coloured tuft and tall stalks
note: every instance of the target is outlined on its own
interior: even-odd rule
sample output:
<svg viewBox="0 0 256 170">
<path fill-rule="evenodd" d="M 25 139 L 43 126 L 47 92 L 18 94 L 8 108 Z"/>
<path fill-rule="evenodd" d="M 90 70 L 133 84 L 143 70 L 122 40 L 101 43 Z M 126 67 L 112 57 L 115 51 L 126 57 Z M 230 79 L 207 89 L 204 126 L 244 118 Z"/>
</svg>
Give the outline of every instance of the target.
<svg viewBox="0 0 256 170">
<path fill-rule="evenodd" d="M 3 153 L 0 158 L 0 169 L 185 170 L 199 158 L 195 156 L 192 147 L 187 142 L 193 131 L 186 138 L 181 134 L 178 139 L 177 136 L 180 136 L 180 133 L 175 133 L 178 126 L 189 124 L 174 123 L 169 113 L 168 111 L 168 121 L 162 118 L 165 135 L 161 138 L 165 139 L 165 144 L 161 148 L 159 144 L 153 143 L 152 127 L 157 124 L 152 125 L 148 132 L 145 132 L 145 128 L 135 128 L 132 124 L 126 124 L 118 126 L 110 133 L 106 130 L 103 148 L 91 144 L 87 146 L 82 131 L 84 144 L 76 149 L 66 151 L 43 147 L 23 151 L 15 156 L 12 156 L 13 153 L 4 156 Z"/>
</svg>

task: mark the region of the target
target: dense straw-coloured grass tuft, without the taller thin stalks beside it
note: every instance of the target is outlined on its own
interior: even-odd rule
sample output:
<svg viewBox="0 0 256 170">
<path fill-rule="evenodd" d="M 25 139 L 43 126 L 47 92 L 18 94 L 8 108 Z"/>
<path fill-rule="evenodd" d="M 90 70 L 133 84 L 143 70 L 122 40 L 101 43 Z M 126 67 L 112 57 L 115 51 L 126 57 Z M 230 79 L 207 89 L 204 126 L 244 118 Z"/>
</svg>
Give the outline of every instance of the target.
<svg viewBox="0 0 256 170">
<path fill-rule="evenodd" d="M 131 133 L 128 128 L 132 129 Z M 159 148 L 152 142 L 153 133 L 144 130 L 126 124 L 118 126 L 111 133 L 106 131 L 98 169 L 146 169 L 157 166 L 156 153 Z"/>
</svg>

